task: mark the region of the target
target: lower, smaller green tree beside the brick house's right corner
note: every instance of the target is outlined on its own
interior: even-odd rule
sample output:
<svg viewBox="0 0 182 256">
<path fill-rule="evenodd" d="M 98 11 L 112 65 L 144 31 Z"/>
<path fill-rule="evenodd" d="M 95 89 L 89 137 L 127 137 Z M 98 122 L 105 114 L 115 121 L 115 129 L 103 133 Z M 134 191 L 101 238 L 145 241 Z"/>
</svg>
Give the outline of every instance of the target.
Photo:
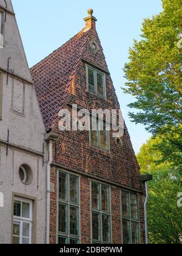
<svg viewBox="0 0 182 256">
<path fill-rule="evenodd" d="M 163 138 L 151 138 L 137 155 L 141 173 L 153 174 L 149 182 L 148 228 L 149 243 L 182 243 L 182 207 L 177 195 L 182 191 L 178 165 L 164 161 L 158 144 Z"/>
</svg>

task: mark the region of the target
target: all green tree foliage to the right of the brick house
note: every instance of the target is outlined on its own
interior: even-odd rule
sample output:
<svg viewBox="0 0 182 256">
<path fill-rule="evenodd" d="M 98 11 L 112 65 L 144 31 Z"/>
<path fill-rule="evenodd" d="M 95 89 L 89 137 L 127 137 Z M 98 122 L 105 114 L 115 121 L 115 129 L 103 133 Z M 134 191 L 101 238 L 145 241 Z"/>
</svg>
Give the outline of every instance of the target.
<svg viewBox="0 0 182 256">
<path fill-rule="evenodd" d="M 130 118 L 153 134 L 138 154 L 141 172 L 149 182 L 150 243 L 182 243 L 182 0 L 163 0 L 163 12 L 143 22 L 140 41 L 134 41 L 126 63 L 125 93 L 135 96 Z"/>
</svg>

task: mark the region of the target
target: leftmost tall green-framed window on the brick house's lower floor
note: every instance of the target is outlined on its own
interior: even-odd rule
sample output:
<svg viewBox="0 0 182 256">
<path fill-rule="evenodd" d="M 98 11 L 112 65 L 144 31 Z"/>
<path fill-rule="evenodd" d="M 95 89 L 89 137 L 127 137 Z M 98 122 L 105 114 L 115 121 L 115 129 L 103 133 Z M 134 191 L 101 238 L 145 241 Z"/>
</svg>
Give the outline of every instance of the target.
<svg viewBox="0 0 182 256">
<path fill-rule="evenodd" d="M 79 244 L 79 177 L 59 171 L 58 244 Z"/>
</svg>

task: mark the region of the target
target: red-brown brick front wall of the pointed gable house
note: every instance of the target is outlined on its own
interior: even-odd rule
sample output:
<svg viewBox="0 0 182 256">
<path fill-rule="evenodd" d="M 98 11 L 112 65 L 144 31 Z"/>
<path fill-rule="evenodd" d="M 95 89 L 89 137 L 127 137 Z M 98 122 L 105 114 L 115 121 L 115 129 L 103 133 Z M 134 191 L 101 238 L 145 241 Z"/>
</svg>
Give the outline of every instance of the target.
<svg viewBox="0 0 182 256">
<path fill-rule="evenodd" d="M 94 54 L 90 41 L 95 40 L 98 44 L 98 52 Z M 106 71 L 106 99 L 87 92 L 86 60 L 93 65 L 99 66 Z M 93 99 L 90 101 L 90 99 Z M 82 60 L 78 63 L 75 77 L 67 96 L 64 108 L 72 104 L 78 104 L 79 108 L 112 108 L 119 109 L 120 105 L 116 97 L 106 60 L 103 54 L 96 30 L 90 29 L 90 36 L 83 51 Z M 116 182 L 121 186 L 141 191 L 140 218 L 141 218 L 141 243 L 144 243 L 144 209 L 142 195 L 144 187 L 141 184 L 140 170 L 132 148 L 127 127 L 124 128 L 122 146 L 117 146 L 110 132 L 110 152 L 101 151 L 89 144 L 89 132 L 59 132 L 57 120 L 53 130 L 59 133 L 59 140 L 53 144 L 53 160 L 57 165 L 73 169 L 83 173 L 81 175 L 81 243 L 90 243 L 90 180 L 86 175 L 92 175 L 95 179 L 104 179 L 107 182 Z M 85 175 L 86 174 L 86 175 Z M 55 190 L 52 191 L 52 207 L 50 219 L 50 242 L 56 243 L 56 169 L 52 170 L 52 182 Z M 120 210 L 120 187 L 111 185 L 112 199 L 112 231 L 113 243 L 121 243 L 121 210 Z"/>
</svg>

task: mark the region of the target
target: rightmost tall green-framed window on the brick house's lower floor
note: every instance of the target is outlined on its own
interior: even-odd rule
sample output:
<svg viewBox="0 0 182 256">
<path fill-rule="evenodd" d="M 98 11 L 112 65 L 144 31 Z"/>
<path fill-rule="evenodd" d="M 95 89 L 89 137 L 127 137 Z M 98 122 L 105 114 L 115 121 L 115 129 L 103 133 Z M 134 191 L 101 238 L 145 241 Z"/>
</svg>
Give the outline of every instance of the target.
<svg viewBox="0 0 182 256">
<path fill-rule="evenodd" d="M 138 195 L 121 191 L 123 244 L 140 244 L 140 213 Z"/>
</svg>

